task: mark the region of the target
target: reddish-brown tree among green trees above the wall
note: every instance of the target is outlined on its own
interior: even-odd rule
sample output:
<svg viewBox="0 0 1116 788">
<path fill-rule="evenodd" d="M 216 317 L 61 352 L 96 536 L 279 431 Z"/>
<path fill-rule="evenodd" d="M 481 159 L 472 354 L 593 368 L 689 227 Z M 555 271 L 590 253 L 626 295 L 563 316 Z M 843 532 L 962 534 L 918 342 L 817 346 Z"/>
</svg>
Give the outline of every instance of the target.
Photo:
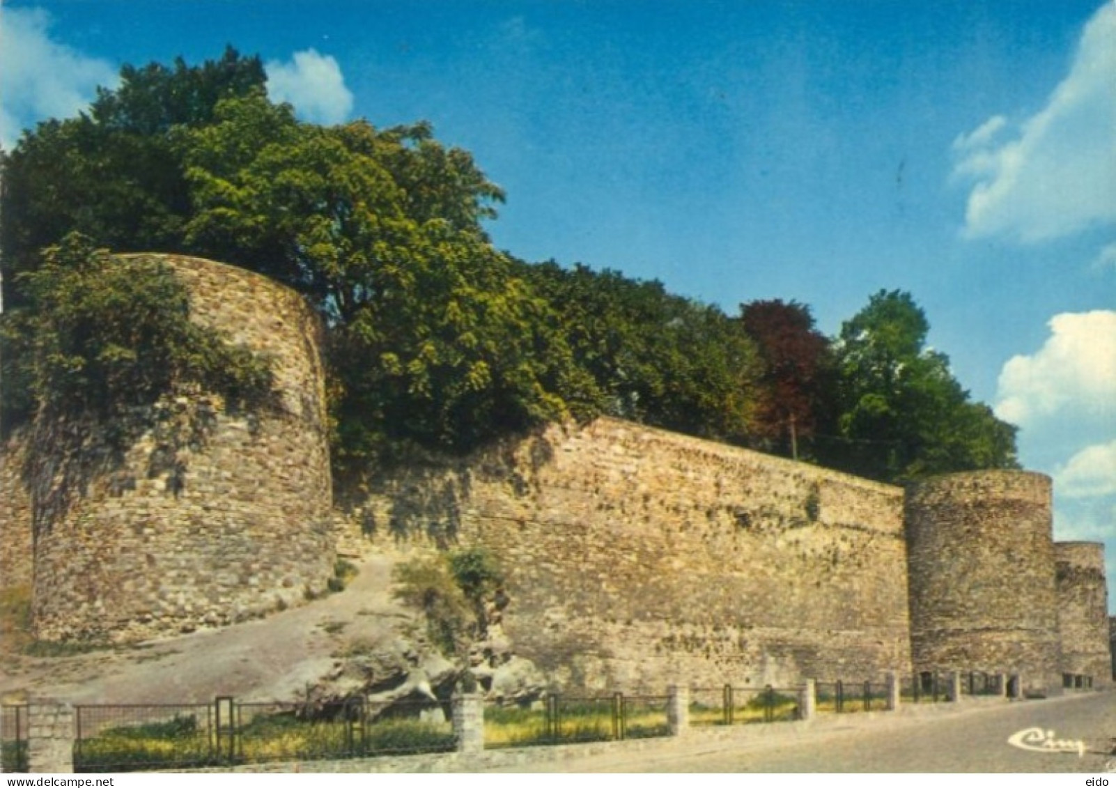
<svg viewBox="0 0 1116 788">
<path fill-rule="evenodd" d="M 762 362 L 754 441 L 768 451 L 797 454 L 811 443 L 831 394 L 829 340 L 814 327 L 810 308 L 797 301 L 740 306 L 744 331 Z"/>
</svg>

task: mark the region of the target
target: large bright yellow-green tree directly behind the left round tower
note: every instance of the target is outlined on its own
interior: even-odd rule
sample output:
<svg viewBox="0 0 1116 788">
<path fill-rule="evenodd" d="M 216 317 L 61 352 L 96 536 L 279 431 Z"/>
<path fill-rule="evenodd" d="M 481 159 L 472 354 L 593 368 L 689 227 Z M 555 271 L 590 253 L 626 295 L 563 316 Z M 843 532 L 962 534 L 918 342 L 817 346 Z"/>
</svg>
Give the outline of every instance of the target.
<svg viewBox="0 0 1116 788">
<path fill-rule="evenodd" d="M 262 270 L 325 316 L 339 459 L 391 442 L 468 449 L 567 413 L 549 307 L 480 220 L 501 196 L 425 125 L 299 123 L 262 95 L 180 140 L 186 243 Z"/>
</svg>

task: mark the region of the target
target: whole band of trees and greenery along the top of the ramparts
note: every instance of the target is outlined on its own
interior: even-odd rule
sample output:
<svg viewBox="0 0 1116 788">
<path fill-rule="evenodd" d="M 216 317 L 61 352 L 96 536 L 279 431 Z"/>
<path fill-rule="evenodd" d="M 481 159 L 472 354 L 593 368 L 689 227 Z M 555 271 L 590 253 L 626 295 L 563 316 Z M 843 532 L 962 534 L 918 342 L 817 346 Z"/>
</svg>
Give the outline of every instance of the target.
<svg viewBox="0 0 1116 788">
<path fill-rule="evenodd" d="M 200 66 L 127 66 L 87 113 L 39 124 L 3 155 L 0 363 L 16 382 L 0 394 L 4 429 L 78 384 L 98 406 L 131 396 L 129 375 L 152 385 L 141 354 L 116 349 L 113 321 L 92 313 L 104 347 L 80 363 L 44 352 L 59 330 L 51 288 L 81 287 L 69 267 L 85 276 L 83 261 L 99 260 L 104 281 L 83 308 L 107 315 L 133 298 L 95 246 L 209 257 L 302 292 L 327 329 L 341 477 L 412 446 L 468 451 L 602 413 L 889 481 L 1014 465 L 1014 427 L 925 347 L 908 294 L 876 294 L 829 339 L 793 301 L 729 315 L 656 281 L 519 261 L 483 228 L 502 191 L 429 124 L 301 122 L 264 80 L 259 58 L 232 49 Z M 85 247 L 64 241 L 73 232 Z M 156 311 L 181 311 L 176 299 L 157 296 Z M 170 371 L 260 383 L 248 357 L 218 365 L 246 375 L 234 381 L 192 357 Z"/>
</svg>

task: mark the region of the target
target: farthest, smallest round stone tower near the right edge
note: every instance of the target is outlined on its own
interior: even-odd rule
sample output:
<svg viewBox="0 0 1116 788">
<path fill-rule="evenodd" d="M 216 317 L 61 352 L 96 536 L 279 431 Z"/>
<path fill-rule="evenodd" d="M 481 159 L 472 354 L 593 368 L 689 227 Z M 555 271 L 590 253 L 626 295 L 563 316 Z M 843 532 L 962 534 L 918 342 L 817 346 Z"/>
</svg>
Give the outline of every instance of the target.
<svg viewBox="0 0 1116 788">
<path fill-rule="evenodd" d="M 1054 554 L 1062 681 L 1074 688 L 1110 684 L 1105 546 L 1061 541 Z"/>
</svg>

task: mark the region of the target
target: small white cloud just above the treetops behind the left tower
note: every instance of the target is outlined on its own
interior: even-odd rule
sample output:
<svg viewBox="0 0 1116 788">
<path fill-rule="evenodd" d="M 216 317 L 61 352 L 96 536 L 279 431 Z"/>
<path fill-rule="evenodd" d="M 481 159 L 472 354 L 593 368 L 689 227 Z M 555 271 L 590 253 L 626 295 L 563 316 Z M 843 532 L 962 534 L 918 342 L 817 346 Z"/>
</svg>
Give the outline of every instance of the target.
<svg viewBox="0 0 1116 788">
<path fill-rule="evenodd" d="M 290 103 L 307 121 L 341 123 L 353 112 L 353 94 L 345 87 L 337 60 L 329 55 L 307 49 L 295 52 L 291 63 L 269 60 L 264 68 L 271 100 Z"/>
</svg>

